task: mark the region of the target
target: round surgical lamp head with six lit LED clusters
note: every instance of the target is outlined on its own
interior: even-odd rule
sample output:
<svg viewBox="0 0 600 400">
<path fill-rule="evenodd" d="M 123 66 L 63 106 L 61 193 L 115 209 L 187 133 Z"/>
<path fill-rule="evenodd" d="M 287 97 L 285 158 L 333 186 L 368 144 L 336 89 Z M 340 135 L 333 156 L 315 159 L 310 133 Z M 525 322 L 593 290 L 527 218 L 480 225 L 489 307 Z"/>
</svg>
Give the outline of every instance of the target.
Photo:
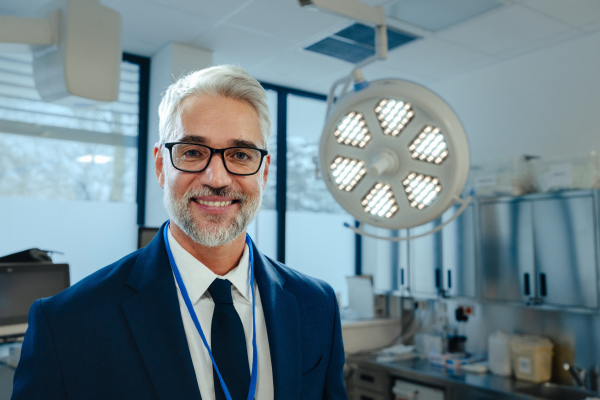
<svg viewBox="0 0 600 400">
<path fill-rule="evenodd" d="M 321 168 L 335 200 L 362 223 L 404 229 L 460 200 L 469 147 L 456 114 L 412 82 L 370 82 L 328 113 Z"/>
</svg>

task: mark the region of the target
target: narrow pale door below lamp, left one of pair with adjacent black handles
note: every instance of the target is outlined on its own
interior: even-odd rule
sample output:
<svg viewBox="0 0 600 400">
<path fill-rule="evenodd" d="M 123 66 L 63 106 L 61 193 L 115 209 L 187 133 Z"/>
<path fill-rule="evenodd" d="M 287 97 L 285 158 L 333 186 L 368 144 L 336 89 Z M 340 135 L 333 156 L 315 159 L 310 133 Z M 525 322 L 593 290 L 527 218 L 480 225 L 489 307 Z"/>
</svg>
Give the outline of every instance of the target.
<svg viewBox="0 0 600 400">
<path fill-rule="evenodd" d="M 417 236 L 434 229 L 439 221 L 409 229 Z M 441 240 L 439 232 L 411 239 L 409 244 L 411 293 L 419 297 L 437 297 L 442 285 Z"/>
</svg>

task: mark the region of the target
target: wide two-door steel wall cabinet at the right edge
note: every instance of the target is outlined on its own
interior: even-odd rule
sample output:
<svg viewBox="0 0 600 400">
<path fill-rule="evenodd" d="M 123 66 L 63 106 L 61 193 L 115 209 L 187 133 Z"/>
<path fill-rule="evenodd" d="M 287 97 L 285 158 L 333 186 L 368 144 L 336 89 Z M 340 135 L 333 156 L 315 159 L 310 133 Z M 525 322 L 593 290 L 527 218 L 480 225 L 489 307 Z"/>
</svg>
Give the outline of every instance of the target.
<svg viewBox="0 0 600 400">
<path fill-rule="evenodd" d="M 482 201 L 483 296 L 597 308 L 596 196 L 585 191 Z"/>
</svg>

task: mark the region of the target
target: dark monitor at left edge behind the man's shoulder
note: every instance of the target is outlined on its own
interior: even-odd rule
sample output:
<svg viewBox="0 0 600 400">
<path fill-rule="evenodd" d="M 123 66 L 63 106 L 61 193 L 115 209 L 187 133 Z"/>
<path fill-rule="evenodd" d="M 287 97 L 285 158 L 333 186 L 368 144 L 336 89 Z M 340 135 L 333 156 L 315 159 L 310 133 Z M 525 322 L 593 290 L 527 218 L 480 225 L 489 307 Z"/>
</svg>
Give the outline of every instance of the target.
<svg viewBox="0 0 600 400">
<path fill-rule="evenodd" d="M 35 300 L 53 296 L 69 283 L 68 264 L 0 263 L 0 336 L 12 334 L 11 325 L 27 323 Z"/>
</svg>

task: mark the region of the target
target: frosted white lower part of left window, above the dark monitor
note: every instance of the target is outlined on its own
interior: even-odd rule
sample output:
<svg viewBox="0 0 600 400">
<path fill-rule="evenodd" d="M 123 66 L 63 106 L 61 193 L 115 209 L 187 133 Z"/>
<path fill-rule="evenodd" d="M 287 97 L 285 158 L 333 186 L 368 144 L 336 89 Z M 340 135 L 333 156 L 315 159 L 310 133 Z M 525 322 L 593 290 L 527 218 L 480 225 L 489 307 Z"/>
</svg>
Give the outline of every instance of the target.
<svg viewBox="0 0 600 400">
<path fill-rule="evenodd" d="M 137 248 L 135 204 L 0 197 L 0 210 L 0 255 L 60 251 L 71 284 Z"/>
</svg>

